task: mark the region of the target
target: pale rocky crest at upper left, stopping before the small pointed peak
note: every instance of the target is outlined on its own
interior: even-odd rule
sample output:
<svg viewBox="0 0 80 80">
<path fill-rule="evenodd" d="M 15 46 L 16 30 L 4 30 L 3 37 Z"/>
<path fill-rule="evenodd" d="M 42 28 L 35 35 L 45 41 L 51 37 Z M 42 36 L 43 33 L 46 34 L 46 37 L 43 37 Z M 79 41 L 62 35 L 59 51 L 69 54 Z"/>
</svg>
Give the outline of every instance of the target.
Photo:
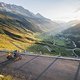
<svg viewBox="0 0 80 80">
<path fill-rule="evenodd" d="M 15 12 L 15 13 L 19 13 L 21 15 L 25 15 L 27 17 L 34 17 L 34 14 L 32 12 L 30 12 L 29 10 L 23 8 L 22 6 L 17 6 L 14 4 L 6 4 L 4 2 L 0 2 L 0 10 L 5 10 L 8 12 Z"/>
</svg>

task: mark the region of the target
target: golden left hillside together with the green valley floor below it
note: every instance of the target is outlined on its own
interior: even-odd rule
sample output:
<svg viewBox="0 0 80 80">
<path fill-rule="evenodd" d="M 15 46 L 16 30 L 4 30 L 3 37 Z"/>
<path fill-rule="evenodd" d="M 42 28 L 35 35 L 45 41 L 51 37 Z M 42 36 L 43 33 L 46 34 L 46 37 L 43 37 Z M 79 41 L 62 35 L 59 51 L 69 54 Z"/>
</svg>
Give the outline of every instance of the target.
<svg viewBox="0 0 80 80">
<path fill-rule="evenodd" d="M 72 52 L 66 50 L 64 40 L 48 36 L 47 34 L 43 36 L 38 34 L 40 40 L 37 40 L 34 37 L 34 33 L 26 29 L 24 25 L 21 25 L 21 20 L 16 19 L 9 15 L 0 14 L 0 50 L 17 49 L 21 51 L 21 49 L 27 49 L 33 52 L 41 51 L 43 54 L 71 56 Z M 56 46 L 53 45 L 54 41 Z M 51 52 L 45 46 L 48 46 Z"/>
</svg>

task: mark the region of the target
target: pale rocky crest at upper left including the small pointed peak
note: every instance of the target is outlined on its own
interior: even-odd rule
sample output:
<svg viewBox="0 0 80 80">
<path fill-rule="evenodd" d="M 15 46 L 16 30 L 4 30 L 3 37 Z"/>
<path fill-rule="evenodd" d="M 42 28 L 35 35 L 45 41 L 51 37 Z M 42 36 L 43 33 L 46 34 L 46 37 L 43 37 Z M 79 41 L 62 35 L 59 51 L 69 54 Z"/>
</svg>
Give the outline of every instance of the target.
<svg viewBox="0 0 80 80">
<path fill-rule="evenodd" d="M 22 6 L 14 5 L 14 4 L 7 4 L 4 2 L 0 2 L 0 10 L 1 11 L 7 11 L 7 12 L 14 12 L 16 14 L 21 14 L 26 17 L 30 18 L 40 18 L 40 19 L 46 19 L 43 17 L 40 13 L 37 13 L 36 15 L 29 10 L 25 9 Z"/>
</svg>

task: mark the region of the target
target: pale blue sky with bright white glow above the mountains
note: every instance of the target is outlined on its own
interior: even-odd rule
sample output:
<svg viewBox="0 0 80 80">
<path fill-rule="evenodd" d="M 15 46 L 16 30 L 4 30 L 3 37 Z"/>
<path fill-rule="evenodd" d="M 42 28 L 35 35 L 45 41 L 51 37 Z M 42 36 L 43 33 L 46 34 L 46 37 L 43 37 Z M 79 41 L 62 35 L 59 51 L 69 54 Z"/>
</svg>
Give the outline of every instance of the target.
<svg viewBox="0 0 80 80">
<path fill-rule="evenodd" d="M 0 0 L 56 21 L 80 20 L 80 0 Z"/>
</svg>

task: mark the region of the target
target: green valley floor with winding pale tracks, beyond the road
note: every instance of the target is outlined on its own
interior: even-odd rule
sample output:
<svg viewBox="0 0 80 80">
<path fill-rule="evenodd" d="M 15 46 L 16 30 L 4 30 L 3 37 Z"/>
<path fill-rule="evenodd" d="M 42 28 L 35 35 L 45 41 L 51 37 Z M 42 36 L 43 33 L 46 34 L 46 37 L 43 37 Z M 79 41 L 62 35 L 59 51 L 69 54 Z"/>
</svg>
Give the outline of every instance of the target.
<svg viewBox="0 0 80 80">
<path fill-rule="evenodd" d="M 41 40 L 29 47 L 32 52 L 42 52 L 42 54 L 48 55 L 61 55 L 61 56 L 72 56 L 72 50 L 67 50 L 67 42 L 63 39 L 59 39 L 53 36 L 38 36 Z M 54 44 L 55 43 L 55 44 Z M 48 46 L 51 52 L 45 47 Z"/>
</svg>

